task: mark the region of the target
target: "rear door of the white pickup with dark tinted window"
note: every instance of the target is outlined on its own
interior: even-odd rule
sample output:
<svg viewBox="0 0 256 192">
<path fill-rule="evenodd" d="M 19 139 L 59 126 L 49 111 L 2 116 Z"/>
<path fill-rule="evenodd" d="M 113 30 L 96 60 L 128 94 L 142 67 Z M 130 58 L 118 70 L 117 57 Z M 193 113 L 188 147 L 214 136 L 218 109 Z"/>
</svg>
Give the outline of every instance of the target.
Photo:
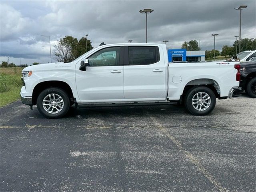
<svg viewBox="0 0 256 192">
<path fill-rule="evenodd" d="M 166 99 L 166 68 L 164 56 L 160 56 L 159 48 L 161 47 L 124 47 L 125 99 Z"/>
</svg>

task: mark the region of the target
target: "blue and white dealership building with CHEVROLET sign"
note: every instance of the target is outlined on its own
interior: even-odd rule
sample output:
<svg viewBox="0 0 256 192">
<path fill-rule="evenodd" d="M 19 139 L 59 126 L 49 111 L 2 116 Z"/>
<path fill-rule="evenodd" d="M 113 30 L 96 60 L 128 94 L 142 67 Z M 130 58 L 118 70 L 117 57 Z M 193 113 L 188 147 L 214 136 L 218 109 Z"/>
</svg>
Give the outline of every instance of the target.
<svg viewBox="0 0 256 192">
<path fill-rule="evenodd" d="M 200 62 L 205 61 L 205 51 L 187 51 L 186 49 L 169 49 L 169 62 L 172 61 L 188 61 Z"/>
</svg>

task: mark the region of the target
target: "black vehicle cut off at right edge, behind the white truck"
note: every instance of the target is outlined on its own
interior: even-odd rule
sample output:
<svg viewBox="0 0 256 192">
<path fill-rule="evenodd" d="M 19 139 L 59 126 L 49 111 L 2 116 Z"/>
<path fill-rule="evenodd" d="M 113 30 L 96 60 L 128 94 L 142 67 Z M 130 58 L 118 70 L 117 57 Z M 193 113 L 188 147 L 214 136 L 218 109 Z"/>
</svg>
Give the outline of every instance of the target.
<svg viewBox="0 0 256 192">
<path fill-rule="evenodd" d="M 256 98 L 256 57 L 250 62 L 240 63 L 240 87 L 245 90 L 246 94 L 252 98 Z"/>
</svg>

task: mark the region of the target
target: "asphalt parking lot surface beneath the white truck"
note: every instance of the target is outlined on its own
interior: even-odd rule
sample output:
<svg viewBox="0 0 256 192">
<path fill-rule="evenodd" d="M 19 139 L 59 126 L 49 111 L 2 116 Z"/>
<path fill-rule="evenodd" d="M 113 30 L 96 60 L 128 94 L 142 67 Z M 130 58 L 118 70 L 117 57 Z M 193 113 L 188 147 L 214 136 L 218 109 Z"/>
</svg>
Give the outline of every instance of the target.
<svg viewBox="0 0 256 192">
<path fill-rule="evenodd" d="M 178 105 L 72 109 L 46 119 L 0 109 L 0 191 L 250 192 L 256 99 L 217 100 L 208 116 Z"/>
</svg>

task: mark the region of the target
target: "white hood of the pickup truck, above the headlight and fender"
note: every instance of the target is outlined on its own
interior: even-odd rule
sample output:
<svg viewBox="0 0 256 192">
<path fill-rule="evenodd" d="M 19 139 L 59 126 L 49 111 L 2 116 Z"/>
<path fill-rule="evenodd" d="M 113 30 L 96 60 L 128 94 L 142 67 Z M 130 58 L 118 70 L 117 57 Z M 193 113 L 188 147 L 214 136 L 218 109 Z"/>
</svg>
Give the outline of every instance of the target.
<svg viewBox="0 0 256 192">
<path fill-rule="evenodd" d="M 24 68 L 22 71 L 70 69 L 72 65 L 73 65 L 72 63 L 64 63 L 64 62 L 46 63 L 46 64 L 28 66 Z"/>
</svg>

